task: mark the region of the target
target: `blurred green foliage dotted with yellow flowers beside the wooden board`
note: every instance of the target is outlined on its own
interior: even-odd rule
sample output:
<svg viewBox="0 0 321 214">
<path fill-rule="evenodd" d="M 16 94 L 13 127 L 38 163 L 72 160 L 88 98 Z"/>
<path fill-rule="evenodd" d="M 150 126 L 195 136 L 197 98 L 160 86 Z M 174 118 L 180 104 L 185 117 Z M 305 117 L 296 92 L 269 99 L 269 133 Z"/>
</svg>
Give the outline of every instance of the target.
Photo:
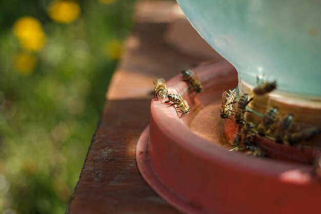
<svg viewBox="0 0 321 214">
<path fill-rule="evenodd" d="M 64 213 L 131 0 L 0 2 L 0 213 Z"/>
</svg>

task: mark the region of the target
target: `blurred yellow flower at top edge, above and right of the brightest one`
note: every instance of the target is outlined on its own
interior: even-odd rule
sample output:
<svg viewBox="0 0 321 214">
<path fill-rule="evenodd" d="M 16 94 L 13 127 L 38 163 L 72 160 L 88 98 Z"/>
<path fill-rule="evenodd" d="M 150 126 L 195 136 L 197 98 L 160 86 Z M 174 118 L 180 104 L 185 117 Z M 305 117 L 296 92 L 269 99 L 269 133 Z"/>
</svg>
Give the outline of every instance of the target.
<svg viewBox="0 0 321 214">
<path fill-rule="evenodd" d="M 48 8 L 50 18 L 57 23 L 72 23 L 81 13 L 81 9 L 75 1 L 55 0 Z"/>
</svg>

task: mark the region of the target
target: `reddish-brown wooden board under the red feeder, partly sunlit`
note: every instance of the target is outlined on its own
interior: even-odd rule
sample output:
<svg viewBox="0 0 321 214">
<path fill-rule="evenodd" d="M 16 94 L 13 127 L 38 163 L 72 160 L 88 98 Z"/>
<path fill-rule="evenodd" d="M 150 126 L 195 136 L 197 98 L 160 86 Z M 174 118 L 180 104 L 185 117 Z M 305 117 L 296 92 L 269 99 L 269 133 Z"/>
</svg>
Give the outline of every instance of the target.
<svg viewBox="0 0 321 214">
<path fill-rule="evenodd" d="M 136 24 L 113 75 L 68 213 L 178 213 L 145 183 L 135 163 L 137 140 L 149 123 L 152 80 L 168 80 L 202 62 L 164 41 L 175 19 L 173 7 L 168 1 L 138 3 Z M 162 12 L 151 14 L 148 8 Z M 201 42 L 199 47 L 207 45 Z M 213 55 L 213 60 L 221 58 Z"/>
</svg>

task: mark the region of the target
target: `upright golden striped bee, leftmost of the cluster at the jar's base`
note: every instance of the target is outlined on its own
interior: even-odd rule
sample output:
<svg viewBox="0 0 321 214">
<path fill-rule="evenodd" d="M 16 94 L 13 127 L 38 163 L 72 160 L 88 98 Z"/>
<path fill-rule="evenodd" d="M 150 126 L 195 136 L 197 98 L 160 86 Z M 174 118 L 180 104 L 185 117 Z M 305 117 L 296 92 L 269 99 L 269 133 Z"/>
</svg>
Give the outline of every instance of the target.
<svg viewBox="0 0 321 214">
<path fill-rule="evenodd" d="M 235 96 L 236 96 L 235 88 L 223 92 L 222 106 L 219 109 L 220 118 L 230 119 L 230 116 L 234 115 L 233 104 L 236 103 Z"/>
</svg>

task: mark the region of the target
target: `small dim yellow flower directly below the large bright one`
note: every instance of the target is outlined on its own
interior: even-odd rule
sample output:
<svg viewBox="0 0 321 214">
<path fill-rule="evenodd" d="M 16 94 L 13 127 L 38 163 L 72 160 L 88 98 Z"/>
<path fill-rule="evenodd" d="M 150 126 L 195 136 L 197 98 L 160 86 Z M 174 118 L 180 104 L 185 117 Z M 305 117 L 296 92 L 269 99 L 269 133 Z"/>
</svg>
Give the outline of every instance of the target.
<svg viewBox="0 0 321 214">
<path fill-rule="evenodd" d="M 20 52 L 15 57 L 15 67 L 22 74 L 30 74 L 36 65 L 36 57 L 30 53 Z"/>
</svg>

